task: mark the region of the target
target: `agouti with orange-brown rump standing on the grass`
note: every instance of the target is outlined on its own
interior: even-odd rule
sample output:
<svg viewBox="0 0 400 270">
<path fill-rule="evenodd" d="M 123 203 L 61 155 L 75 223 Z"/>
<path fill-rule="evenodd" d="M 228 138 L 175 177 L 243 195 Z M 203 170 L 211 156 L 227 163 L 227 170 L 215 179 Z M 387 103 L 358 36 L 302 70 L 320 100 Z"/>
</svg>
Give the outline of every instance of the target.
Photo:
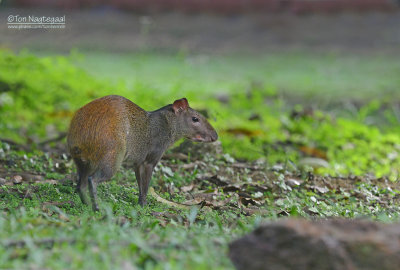
<svg viewBox="0 0 400 270">
<path fill-rule="evenodd" d="M 98 183 L 109 180 L 124 160 L 135 170 L 139 204 L 146 196 L 153 169 L 165 150 L 185 137 L 214 142 L 217 132 L 186 98 L 156 111 L 145 111 L 121 96 L 105 96 L 80 108 L 71 120 L 68 150 L 78 171 L 77 192 L 87 204 L 87 187 L 97 211 Z"/>
</svg>

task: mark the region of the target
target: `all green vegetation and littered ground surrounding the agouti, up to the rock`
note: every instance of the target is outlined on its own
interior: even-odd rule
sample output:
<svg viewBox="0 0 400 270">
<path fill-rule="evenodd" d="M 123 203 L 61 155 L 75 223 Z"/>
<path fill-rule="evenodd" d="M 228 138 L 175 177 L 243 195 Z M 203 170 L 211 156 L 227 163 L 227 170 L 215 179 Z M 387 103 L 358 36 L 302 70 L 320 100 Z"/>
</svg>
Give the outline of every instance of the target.
<svg viewBox="0 0 400 270">
<path fill-rule="evenodd" d="M 0 268 L 230 269 L 229 242 L 265 219 L 398 220 L 399 70 L 385 55 L 0 51 Z M 222 153 L 169 152 L 153 177 L 190 207 L 138 207 L 129 167 L 99 186 L 99 213 L 80 202 L 65 142 L 41 142 L 108 94 L 147 110 L 186 96 L 211 119 Z"/>
</svg>

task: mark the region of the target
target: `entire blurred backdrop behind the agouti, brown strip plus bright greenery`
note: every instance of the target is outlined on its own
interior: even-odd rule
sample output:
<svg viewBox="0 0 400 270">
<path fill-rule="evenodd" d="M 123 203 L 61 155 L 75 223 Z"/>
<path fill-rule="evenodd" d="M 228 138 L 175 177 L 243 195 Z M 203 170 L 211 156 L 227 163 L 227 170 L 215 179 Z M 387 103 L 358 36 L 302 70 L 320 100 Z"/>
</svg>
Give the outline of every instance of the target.
<svg viewBox="0 0 400 270">
<path fill-rule="evenodd" d="M 186 96 L 236 158 L 397 179 L 399 11 L 395 0 L 3 0 L 1 137 L 55 137 L 106 94 L 147 110 Z M 65 16 L 65 28 L 10 29 L 9 15 Z"/>
</svg>

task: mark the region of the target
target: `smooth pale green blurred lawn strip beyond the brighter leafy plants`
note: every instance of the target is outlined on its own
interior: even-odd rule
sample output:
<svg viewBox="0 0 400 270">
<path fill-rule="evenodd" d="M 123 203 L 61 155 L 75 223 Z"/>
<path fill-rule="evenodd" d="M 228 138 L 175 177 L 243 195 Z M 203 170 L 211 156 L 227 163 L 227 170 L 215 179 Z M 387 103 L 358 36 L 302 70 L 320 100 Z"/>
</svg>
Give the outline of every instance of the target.
<svg viewBox="0 0 400 270">
<path fill-rule="evenodd" d="M 217 94 L 261 84 L 290 97 L 330 102 L 400 98 L 400 57 L 387 54 L 276 52 L 263 55 L 75 53 L 98 78 L 158 91 Z"/>
</svg>

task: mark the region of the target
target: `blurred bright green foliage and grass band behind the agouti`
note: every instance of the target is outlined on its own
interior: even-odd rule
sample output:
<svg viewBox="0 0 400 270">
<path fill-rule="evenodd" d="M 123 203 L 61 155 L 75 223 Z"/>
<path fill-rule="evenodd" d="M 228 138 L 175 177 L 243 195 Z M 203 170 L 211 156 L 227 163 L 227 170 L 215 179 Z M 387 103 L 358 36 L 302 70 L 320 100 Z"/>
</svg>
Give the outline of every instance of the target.
<svg viewBox="0 0 400 270">
<path fill-rule="evenodd" d="M 291 56 L 290 61 L 294 67 L 282 73 L 292 82 L 285 85 L 282 78 L 277 77 L 276 71 L 271 69 L 272 63 L 278 65 L 278 59 L 275 58 L 264 59 L 265 66 L 260 66 L 263 61 L 252 65 L 247 58 L 241 57 L 225 57 L 218 61 L 184 55 L 143 54 L 121 60 L 89 54 L 92 66 L 88 64 L 86 67 L 97 67 L 100 73 L 94 73 L 101 77 L 97 79 L 72 64 L 74 62 L 84 66 L 76 53 L 70 58 L 38 58 L 29 53 L 15 55 L 0 51 L 0 133 L 2 137 L 20 142 L 27 136 L 34 141 L 37 141 L 37 136 L 51 137 L 55 131 L 67 129 L 68 121 L 77 108 L 107 94 L 126 96 L 147 110 L 186 96 L 192 107 L 206 108 L 220 134 L 224 151 L 235 157 L 250 160 L 264 158 L 271 166 L 288 161 L 297 164 L 302 158 L 312 155 L 301 151 L 301 147 L 308 147 L 322 152 L 330 164 L 328 168 L 317 169 L 318 173 L 371 173 L 397 180 L 400 168 L 400 130 L 397 128 L 396 112 L 390 106 L 384 109 L 388 105 L 385 103 L 386 96 L 382 100 L 366 103 L 352 112 L 351 116 L 338 115 L 335 118 L 330 113 L 317 110 L 307 115 L 301 106 L 288 110 L 290 105 L 286 99 L 277 95 L 278 88 L 294 87 L 291 84 L 298 82 L 301 91 L 305 93 L 304 97 L 311 93 L 307 92 L 307 87 L 314 89 L 312 93 L 318 93 L 316 89 L 319 87 L 324 91 L 329 88 L 318 77 L 322 76 L 320 73 L 316 78 L 317 84 L 310 81 L 309 76 L 319 65 L 318 58 L 309 60 L 298 54 Z M 332 55 L 321 58 L 323 64 L 342 65 Z M 281 60 L 289 63 L 289 58 L 282 56 Z M 371 60 L 371 63 L 380 66 L 381 60 L 378 57 Z M 110 63 L 111 67 L 105 66 L 106 63 Z M 237 73 L 232 68 L 238 63 L 246 67 L 245 71 Z M 298 70 L 301 63 L 309 68 Z M 347 64 L 354 64 L 351 63 Z M 283 69 L 282 65 L 277 67 Z M 364 75 L 375 70 L 369 66 L 360 69 Z M 271 73 L 268 77 L 270 81 L 260 79 L 261 70 Z M 334 81 L 329 81 L 329 93 L 339 91 L 340 88 L 357 87 L 348 74 L 337 67 L 332 66 L 329 70 L 334 70 L 337 75 Z M 129 74 L 124 73 L 128 71 Z M 107 72 L 112 73 L 109 78 L 113 78 L 113 82 L 104 79 Z M 121 76 L 128 79 L 115 80 L 121 79 Z M 219 76 L 226 76 L 226 79 Z M 373 77 L 368 80 L 379 88 L 380 81 Z M 340 85 L 336 81 L 340 81 Z M 392 88 L 396 85 L 398 87 L 398 80 L 390 81 Z M 364 87 L 361 81 L 359 86 Z M 214 89 L 218 93 L 214 93 Z M 321 93 L 330 95 L 324 91 L 321 90 Z M 215 98 L 218 95 L 225 95 L 225 98 Z M 296 95 L 301 96 L 299 93 Z M 382 110 L 384 117 L 372 121 L 374 115 Z M 299 116 L 293 116 L 294 112 Z M 373 126 L 376 122 L 389 125 L 379 129 Z"/>
</svg>

